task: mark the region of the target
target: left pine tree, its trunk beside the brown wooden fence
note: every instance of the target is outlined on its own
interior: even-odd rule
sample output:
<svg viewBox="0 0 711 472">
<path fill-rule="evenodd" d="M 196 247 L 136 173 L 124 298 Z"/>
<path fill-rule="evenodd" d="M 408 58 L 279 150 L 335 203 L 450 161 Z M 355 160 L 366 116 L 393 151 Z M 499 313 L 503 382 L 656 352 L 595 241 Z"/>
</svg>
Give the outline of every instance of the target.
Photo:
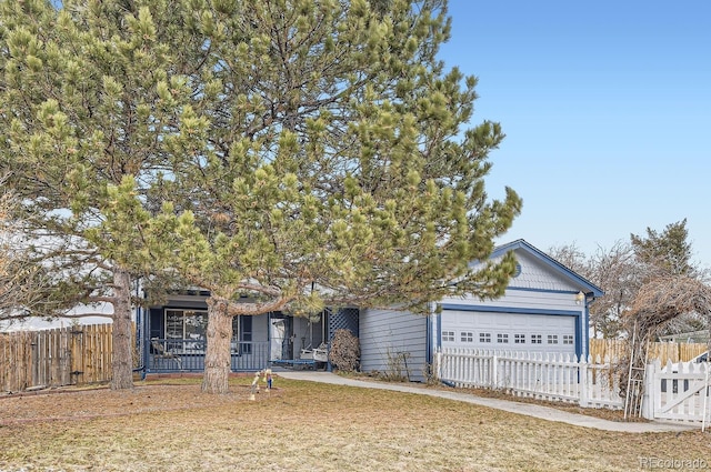
<svg viewBox="0 0 711 472">
<path fill-rule="evenodd" d="M 169 168 L 180 112 L 169 90 L 193 67 L 186 9 L 144 3 L 0 3 L 0 167 L 22 203 L 14 218 L 54 271 L 56 307 L 113 307 L 114 389 L 132 386 L 130 277 L 152 259 L 143 207 Z"/>
</svg>

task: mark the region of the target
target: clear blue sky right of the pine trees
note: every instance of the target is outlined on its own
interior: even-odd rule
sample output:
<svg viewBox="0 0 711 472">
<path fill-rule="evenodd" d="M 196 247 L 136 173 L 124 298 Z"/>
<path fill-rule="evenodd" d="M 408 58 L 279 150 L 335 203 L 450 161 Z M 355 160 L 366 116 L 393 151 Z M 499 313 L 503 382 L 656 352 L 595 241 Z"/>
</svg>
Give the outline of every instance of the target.
<svg viewBox="0 0 711 472">
<path fill-rule="evenodd" d="M 472 124 L 499 121 L 491 198 L 523 212 L 500 243 L 629 241 L 688 220 L 711 267 L 711 1 L 450 0 L 445 64 L 477 76 Z"/>
</svg>

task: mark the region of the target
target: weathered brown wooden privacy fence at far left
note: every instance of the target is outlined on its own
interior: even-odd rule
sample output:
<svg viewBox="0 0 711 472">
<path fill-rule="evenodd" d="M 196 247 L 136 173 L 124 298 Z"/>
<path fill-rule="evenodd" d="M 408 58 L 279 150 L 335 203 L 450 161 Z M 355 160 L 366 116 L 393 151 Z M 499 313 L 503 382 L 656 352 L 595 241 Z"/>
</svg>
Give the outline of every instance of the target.
<svg viewBox="0 0 711 472">
<path fill-rule="evenodd" d="M 0 333 L 0 391 L 111 379 L 111 324 Z"/>
</svg>

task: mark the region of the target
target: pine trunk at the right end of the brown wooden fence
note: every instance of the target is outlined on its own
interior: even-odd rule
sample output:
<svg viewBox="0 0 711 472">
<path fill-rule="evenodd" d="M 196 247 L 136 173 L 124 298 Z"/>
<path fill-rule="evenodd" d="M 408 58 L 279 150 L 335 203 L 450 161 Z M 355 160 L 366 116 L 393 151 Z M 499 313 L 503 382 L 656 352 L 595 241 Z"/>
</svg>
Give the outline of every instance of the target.
<svg viewBox="0 0 711 472">
<path fill-rule="evenodd" d="M 113 327 L 111 330 L 111 390 L 133 388 L 133 325 L 131 323 L 131 280 L 122 270 L 113 272 Z"/>
</svg>

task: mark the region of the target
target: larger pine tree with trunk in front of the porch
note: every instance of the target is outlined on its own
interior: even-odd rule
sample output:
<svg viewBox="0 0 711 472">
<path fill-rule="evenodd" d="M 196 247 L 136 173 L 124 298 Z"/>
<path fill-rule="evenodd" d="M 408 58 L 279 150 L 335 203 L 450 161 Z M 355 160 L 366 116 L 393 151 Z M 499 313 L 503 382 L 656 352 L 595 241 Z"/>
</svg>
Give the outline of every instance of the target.
<svg viewBox="0 0 711 472">
<path fill-rule="evenodd" d="M 203 389 L 223 392 L 233 315 L 324 304 L 424 310 L 500 295 L 481 271 L 520 211 L 489 201 L 498 123 L 465 129 L 477 80 L 437 59 L 445 2 L 193 2 L 204 60 L 171 137 L 161 252 L 210 290 Z M 173 250 L 168 250 L 172 247 Z"/>
</svg>

